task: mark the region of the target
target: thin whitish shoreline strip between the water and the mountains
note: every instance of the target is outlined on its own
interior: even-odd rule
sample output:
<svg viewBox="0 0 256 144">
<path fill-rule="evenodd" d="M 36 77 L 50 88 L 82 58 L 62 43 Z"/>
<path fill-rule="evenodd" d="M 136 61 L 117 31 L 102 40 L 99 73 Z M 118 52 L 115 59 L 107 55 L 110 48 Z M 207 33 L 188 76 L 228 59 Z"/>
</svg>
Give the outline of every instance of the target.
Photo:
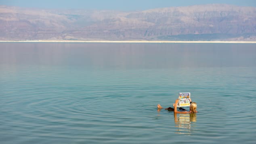
<svg viewBox="0 0 256 144">
<path fill-rule="evenodd" d="M 256 41 L 107 41 L 107 40 L 0 40 L 1 42 L 80 42 L 80 43 L 223 43 L 223 44 L 256 44 Z"/>
</svg>

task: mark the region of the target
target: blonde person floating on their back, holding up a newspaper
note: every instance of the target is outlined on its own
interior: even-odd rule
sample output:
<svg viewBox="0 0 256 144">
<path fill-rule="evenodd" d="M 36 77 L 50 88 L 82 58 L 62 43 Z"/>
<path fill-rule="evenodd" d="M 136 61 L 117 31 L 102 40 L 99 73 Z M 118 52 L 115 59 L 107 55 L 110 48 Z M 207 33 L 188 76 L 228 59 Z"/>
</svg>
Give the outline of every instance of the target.
<svg viewBox="0 0 256 144">
<path fill-rule="evenodd" d="M 180 110 L 183 111 L 177 111 L 177 104 L 178 104 L 178 99 L 175 100 L 175 103 L 173 104 L 174 108 L 168 107 L 166 108 L 166 110 L 168 111 L 174 111 L 174 113 L 197 113 L 196 109 L 197 109 L 197 103 L 196 102 L 192 102 L 191 98 L 189 98 L 189 102 L 190 102 L 190 106 L 189 106 L 189 111 L 186 111 L 183 108 L 179 108 Z M 157 104 L 157 109 L 163 109 L 162 106 L 160 104 Z"/>
</svg>

